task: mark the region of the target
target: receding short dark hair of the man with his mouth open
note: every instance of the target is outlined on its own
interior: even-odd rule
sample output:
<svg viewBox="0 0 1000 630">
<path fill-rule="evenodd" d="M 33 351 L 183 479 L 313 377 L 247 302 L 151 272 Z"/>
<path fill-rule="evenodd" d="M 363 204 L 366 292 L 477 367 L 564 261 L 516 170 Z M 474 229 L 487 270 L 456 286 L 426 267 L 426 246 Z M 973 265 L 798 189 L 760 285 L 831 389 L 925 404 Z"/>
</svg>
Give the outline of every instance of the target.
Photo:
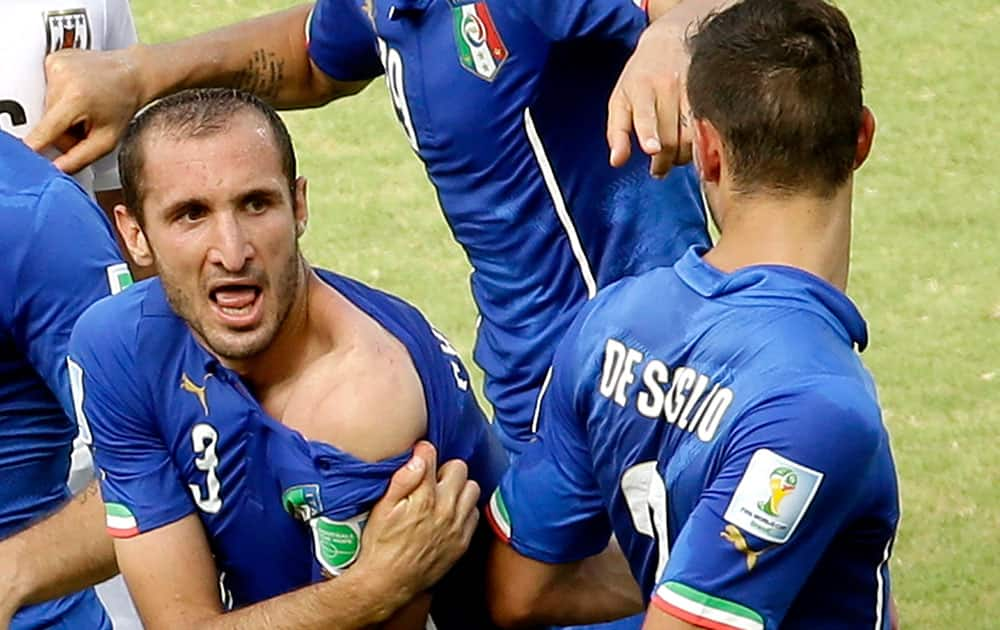
<svg viewBox="0 0 1000 630">
<path fill-rule="evenodd" d="M 288 128 L 273 107 L 247 92 L 230 88 L 184 90 L 162 98 L 132 119 L 122 137 L 118 152 L 118 172 L 122 181 L 125 205 L 141 223 L 142 169 L 146 162 L 142 141 L 151 130 L 176 137 L 203 137 L 226 132 L 240 112 L 257 112 L 274 136 L 281 156 L 281 170 L 295 190 L 295 149 Z"/>
</svg>

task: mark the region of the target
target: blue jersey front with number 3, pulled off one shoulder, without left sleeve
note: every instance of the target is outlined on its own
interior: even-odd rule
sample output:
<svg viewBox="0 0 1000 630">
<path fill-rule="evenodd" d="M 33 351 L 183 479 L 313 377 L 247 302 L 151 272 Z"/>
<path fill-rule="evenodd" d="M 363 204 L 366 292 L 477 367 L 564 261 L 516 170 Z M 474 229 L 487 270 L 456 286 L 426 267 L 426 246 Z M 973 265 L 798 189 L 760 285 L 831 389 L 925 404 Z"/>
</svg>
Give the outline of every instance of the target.
<svg viewBox="0 0 1000 630">
<path fill-rule="evenodd" d="M 450 393 L 457 378 L 467 383 L 464 369 L 451 367 L 444 342 L 426 324 L 421 329 L 412 313 L 384 298 L 362 302 L 363 292 L 353 290 L 349 298 L 386 326 L 417 366 L 428 439 L 442 457 L 472 460 L 470 476 L 495 485 L 502 469 L 478 455 L 489 437 L 473 423 L 481 416 L 460 416 Z M 368 510 L 408 452 L 370 463 L 306 439 L 270 417 L 238 376 L 185 329 L 168 328 L 183 334 L 170 344 L 176 350 L 164 359 L 164 371 L 151 380 L 162 401 L 157 417 L 208 534 L 227 604 L 245 606 L 349 567 L 360 552 Z M 149 338 L 163 347 L 154 329 L 140 337 Z"/>
</svg>

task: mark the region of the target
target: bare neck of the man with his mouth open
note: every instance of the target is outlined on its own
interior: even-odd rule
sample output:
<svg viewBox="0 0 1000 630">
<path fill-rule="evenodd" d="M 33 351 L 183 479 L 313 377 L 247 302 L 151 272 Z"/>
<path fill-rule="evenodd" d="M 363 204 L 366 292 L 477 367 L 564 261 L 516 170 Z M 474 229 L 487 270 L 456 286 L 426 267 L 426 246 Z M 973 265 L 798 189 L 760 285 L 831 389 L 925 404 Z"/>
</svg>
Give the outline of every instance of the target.
<svg viewBox="0 0 1000 630">
<path fill-rule="evenodd" d="M 302 288 L 271 345 L 246 361 L 226 362 L 258 397 L 283 383 L 294 381 L 329 348 L 329 336 L 316 326 L 311 297 L 322 280 L 306 266 Z"/>
</svg>

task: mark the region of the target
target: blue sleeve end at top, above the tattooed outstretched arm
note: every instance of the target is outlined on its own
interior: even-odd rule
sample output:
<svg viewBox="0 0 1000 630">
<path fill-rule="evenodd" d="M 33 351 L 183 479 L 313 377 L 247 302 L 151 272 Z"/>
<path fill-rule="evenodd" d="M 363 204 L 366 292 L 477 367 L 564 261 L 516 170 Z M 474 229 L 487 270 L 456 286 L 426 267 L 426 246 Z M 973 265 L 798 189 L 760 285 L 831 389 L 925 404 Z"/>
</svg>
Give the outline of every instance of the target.
<svg viewBox="0 0 1000 630">
<path fill-rule="evenodd" d="M 362 0 L 319 0 L 309 16 L 306 36 L 309 57 L 333 79 L 362 81 L 383 72 L 375 28 Z"/>
</svg>

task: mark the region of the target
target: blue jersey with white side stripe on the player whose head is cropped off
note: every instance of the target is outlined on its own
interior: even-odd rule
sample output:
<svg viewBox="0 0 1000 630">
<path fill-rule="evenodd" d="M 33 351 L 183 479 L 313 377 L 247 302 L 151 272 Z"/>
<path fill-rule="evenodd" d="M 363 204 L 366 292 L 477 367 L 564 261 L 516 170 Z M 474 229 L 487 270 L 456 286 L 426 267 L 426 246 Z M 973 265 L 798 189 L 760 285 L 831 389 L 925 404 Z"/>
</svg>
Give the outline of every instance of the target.
<svg viewBox="0 0 1000 630">
<path fill-rule="evenodd" d="M 309 53 L 385 73 L 472 265 L 475 359 L 505 445 L 529 439 L 559 338 L 597 289 L 707 242 L 696 175 L 608 166 L 607 103 L 645 13 L 631 0 L 319 0 Z"/>
</svg>

